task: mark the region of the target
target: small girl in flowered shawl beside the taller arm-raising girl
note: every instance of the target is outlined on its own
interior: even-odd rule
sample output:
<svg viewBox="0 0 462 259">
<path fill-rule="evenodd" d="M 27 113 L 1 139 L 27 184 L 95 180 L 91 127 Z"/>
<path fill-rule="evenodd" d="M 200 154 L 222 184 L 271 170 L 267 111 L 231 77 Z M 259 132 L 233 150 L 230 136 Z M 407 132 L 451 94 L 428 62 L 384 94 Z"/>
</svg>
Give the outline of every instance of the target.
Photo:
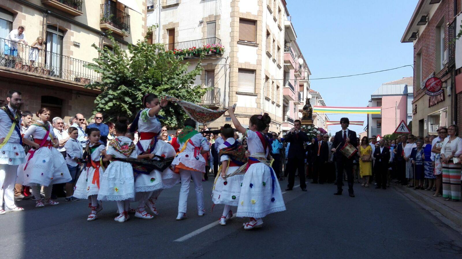
<svg viewBox="0 0 462 259">
<path fill-rule="evenodd" d="M 217 174 L 215 178 L 212 200 L 214 204 L 225 204 L 223 215 L 220 217 L 220 225 L 225 226 L 226 220 L 232 217 L 231 206 L 239 204 L 241 184 L 244 179 L 244 175 L 232 177 L 226 177 L 226 175 L 232 174 L 247 163 L 248 159 L 245 157 L 244 146 L 234 139 L 234 130 L 231 125 L 225 124 L 221 133 L 226 141 L 219 146 L 219 157 L 222 162 L 221 174 Z"/>
</svg>

